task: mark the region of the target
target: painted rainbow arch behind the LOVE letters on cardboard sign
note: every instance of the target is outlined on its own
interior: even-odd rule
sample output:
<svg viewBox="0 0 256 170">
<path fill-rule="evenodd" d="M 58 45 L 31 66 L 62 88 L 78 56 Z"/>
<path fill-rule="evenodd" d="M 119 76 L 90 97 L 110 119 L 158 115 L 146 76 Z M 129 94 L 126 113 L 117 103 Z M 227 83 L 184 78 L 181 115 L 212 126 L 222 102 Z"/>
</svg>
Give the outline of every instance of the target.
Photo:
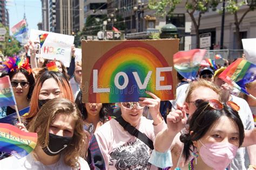
<svg viewBox="0 0 256 170">
<path fill-rule="evenodd" d="M 149 97 L 145 91 L 151 91 L 163 101 L 170 100 L 174 97 L 172 70 L 160 73 L 164 79 L 160 81 L 160 86 L 171 86 L 171 89 L 156 90 L 156 70 L 163 67 L 171 66 L 153 46 L 140 41 L 122 42 L 99 58 L 91 70 L 90 91 L 93 88 L 93 70 L 98 70 L 98 88 L 110 88 L 110 93 L 90 92 L 88 101 L 91 103 L 135 102 L 139 97 Z M 134 72 L 137 72 L 143 84 L 149 71 L 152 71 L 150 81 L 145 89 L 139 89 Z M 124 72 L 129 77 L 129 82 L 124 89 L 119 89 L 114 84 L 114 79 L 120 72 Z M 120 85 L 124 84 L 124 77 L 119 76 L 118 82 Z"/>
</svg>

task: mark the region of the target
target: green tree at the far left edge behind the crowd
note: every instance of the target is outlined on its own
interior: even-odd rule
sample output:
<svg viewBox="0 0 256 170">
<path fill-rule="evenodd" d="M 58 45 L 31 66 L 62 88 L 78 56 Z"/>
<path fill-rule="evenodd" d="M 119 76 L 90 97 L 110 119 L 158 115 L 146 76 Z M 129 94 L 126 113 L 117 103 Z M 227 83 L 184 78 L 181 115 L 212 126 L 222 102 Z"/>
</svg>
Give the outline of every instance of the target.
<svg viewBox="0 0 256 170">
<path fill-rule="evenodd" d="M 14 54 L 17 54 L 19 51 L 21 51 L 21 45 L 14 37 L 10 36 L 9 28 L 7 26 L 4 26 L 2 23 L 0 23 L 0 27 L 4 27 L 6 29 L 5 41 L 0 42 L 0 46 L 3 48 L 3 54 L 7 56 L 13 56 Z"/>
</svg>

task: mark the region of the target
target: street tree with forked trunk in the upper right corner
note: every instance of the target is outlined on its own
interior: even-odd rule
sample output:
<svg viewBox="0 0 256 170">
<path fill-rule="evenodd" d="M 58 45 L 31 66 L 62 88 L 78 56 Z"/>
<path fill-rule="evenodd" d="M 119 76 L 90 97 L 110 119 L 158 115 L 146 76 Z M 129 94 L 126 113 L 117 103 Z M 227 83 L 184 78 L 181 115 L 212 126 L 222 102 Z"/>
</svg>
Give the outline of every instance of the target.
<svg viewBox="0 0 256 170">
<path fill-rule="evenodd" d="M 228 0 L 226 2 L 225 9 L 227 12 L 231 13 L 234 15 L 234 25 L 235 25 L 235 34 L 236 34 L 236 41 L 237 41 L 237 48 L 242 47 L 241 46 L 241 35 L 240 35 L 240 24 L 242 23 L 242 20 L 245 18 L 248 12 L 253 11 L 255 9 L 255 5 L 253 2 L 251 4 L 248 4 L 248 8 L 242 13 L 241 18 L 238 18 L 238 11 L 240 10 L 242 5 L 245 5 L 245 1 L 233 1 L 233 0 Z"/>
</svg>

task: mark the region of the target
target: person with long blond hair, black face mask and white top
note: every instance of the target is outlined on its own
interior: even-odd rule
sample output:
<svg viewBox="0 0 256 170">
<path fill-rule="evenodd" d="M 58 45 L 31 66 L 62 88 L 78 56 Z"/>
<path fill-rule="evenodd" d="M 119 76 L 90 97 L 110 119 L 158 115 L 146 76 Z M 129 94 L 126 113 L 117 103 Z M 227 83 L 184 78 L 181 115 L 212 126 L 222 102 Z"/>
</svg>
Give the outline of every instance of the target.
<svg viewBox="0 0 256 170">
<path fill-rule="evenodd" d="M 35 150 L 21 159 L 1 160 L 1 169 L 90 169 L 81 158 L 86 153 L 88 138 L 75 103 L 64 98 L 45 103 L 29 131 L 38 135 Z"/>
</svg>

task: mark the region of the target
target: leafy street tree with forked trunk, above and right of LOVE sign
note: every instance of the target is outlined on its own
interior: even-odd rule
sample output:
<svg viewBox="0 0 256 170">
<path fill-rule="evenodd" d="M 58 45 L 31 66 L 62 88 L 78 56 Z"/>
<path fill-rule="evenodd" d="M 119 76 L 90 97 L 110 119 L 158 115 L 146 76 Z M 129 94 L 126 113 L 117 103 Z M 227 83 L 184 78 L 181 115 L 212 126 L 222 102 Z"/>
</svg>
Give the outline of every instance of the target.
<svg viewBox="0 0 256 170">
<path fill-rule="evenodd" d="M 180 2 L 181 0 L 150 0 L 149 9 L 156 10 L 157 15 L 161 17 L 165 16 L 166 14 L 172 15 L 173 11 L 176 8 L 176 5 Z M 196 31 L 197 48 L 199 48 L 200 43 L 199 27 L 201 16 L 210 8 L 212 8 L 213 11 L 216 10 L 219 2 L 220 0 L 186 0 L 185 9 L 188 15 L 190 15 L 192 23 L 194 25 L 194 29 Z M 194 16 L 196 12 L 198 13 L 197 19 Z"/>
</svg>

